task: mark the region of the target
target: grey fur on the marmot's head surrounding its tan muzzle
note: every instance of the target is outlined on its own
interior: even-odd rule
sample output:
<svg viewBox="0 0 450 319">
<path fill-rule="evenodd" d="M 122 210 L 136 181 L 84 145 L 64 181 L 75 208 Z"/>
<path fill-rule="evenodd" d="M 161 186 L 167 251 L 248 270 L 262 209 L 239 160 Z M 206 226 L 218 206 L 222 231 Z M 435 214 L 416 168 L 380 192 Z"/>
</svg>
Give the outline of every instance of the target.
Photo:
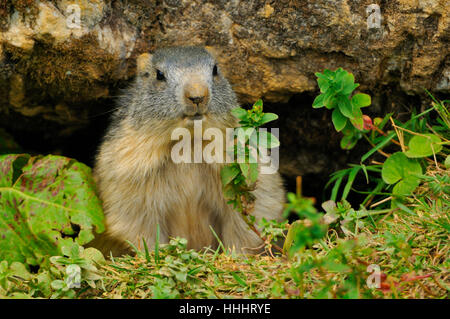
<svg viewBox="0 0 450 319">
<path fill-rule="evenodd" d="M 216 61 L 202 47 L 172 47 L 157 50 L 151 61 L 148 77 L 138 74 L 134 83 L 119 99 L 119 110 L 114 121 L 125 117 L 133 120 L 139 127 L 153 120 L 170 120 L 183 114 L 184 102 L 182 84 L 188 80 L 191 72 L 202 76 L 211 92 L 209 112 L 215 116 L 227 116 L 237 107 L 236 95 L 231 85 L 218 69 L 213 76 Z M 156 79 L 156 70 L 164 73 L 166 80 Z"/>
</svg>

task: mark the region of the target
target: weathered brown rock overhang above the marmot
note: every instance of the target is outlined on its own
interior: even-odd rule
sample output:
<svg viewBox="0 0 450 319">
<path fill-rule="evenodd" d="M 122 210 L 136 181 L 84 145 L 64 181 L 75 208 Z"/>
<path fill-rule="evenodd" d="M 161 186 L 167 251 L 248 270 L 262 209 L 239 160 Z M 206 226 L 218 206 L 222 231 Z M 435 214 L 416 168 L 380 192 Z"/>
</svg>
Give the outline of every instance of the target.
<svg viewBox="0 0 450 319">
<path fill-rule="evenodd" d="M 372 3 L 380 5 L 381 20 L 368 28 L 376 22 L 367 11 Z M 89 114 L 97 108 L 112 105 L 139 54 L 188 44 L 216 53 L 243 103 L 312 96 L 315 72 L 343 67 L 373 93 L 373 110 L 388 110 L 387 87 L 418 99 L 423 88 L 449 93 L 449 21 L 447 0 L 6 0 L 0 4 L 0 124 L 20 131 L 48 122 L 47 131 L 70 136 L 92 125 Z M 292 134 L 305 139 L 316 124 L 324 127 L 320 134 L 334 133 L 328 124 L 303 120 L 310 106 L 298 101 L 286 113 L 293 119 L 279 123 L 291 146 L 283 170 L 319 173 L 332 166 L 326 154 L 318 160 L 320 151 L 302 153 Z M 22 120 L 28 124 L 19 128 L 15 122 Z"/>
</svg>

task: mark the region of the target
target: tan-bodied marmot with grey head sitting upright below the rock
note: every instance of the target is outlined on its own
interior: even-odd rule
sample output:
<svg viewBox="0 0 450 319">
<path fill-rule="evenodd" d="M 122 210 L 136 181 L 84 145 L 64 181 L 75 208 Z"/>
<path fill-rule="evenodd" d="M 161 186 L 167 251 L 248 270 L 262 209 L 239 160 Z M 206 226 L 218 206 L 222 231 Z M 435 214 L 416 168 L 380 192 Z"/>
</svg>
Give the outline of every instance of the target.
<svg viewBox="0 0 450 319">
<path fill-rule="evenodd" d="M 106 231 L 93 243 L 109 255 L 128 253 L 126 240 L 142 247 L 171 237 L 188 248 L 217 247 L 254 253 L 260 238 L 222 194 L 220 163 L 171 159 L 171 132 L 202 120 L 203 128 L 236 127 L 236 96 L 213 56 L 203 47 L 171 47 L 143 54 L 134 83 L 119 99 L 99 148 L 94 178 L 103 201 Z M 281 220 L 284 189 L 278 173 L 260 174 L 252 214 Z"/>
</svg>

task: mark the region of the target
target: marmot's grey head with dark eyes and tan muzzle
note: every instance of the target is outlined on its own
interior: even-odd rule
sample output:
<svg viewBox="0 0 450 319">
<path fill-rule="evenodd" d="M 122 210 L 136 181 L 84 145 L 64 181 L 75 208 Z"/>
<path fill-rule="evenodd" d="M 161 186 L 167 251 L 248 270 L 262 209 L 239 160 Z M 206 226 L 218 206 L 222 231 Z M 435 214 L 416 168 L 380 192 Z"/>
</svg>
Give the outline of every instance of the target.
<svg viewBox="0 0 450 319">
<path fill-rule="evenodd" d="M 236 96 L 213 56 L 201 47 L 171 47 L 142 54 L 127 94 L 128 115 L 140 124 L 169 121 L 189 126 L 230 123 Z M 207 126 L 210 126 L 207 125 Z"/>
</svg>

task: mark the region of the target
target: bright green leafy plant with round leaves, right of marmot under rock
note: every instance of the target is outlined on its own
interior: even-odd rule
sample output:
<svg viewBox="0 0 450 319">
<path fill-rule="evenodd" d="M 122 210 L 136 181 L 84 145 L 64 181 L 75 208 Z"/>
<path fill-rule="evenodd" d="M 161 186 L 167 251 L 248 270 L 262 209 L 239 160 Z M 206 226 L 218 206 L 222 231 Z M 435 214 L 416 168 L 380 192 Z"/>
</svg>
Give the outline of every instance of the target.
<svg viewBox="0 0 450 319">
<path fill-rule="evenodd" d="M 352 190 L 357 174 L 363 172 L 367 183 L 376 185 L 369 192 L 365 192 L 367 197 L 363 203 L 366 207 L 379 195 L 390 196 L 388 199 L 393 199 L 393 207 L 401 203 L 402 198 L 410 195 L 419 186 L 426 158 L 433 156 L 436 160 L 438 154 L 447 152 L 444 147 L 449 143 L 445 137 L 449 132 L 446 102 L 437 101 L 429 93 L 434 100 L 433 107 L 418 115 L 413 112 L 406 123 L 392 119 L 392 113 L 372 121 L 360 111 L 361 107 L 370 105 L 370 96 L 359 93 L 350 97 L 358 87 L 358 84 L 354 83 L 353 75 L 339 68 L 334 72 L 325 70 L 323 73 L 316 73 L 316 76 L 321 94 L 314 100 L 313 107 L 325 106 L 333 110 L 334 127 L 344 133 L 341 147 L 350 149 L 362 137 L 372 146 L 372 149 L 361 157 L 359 165 L 351 164 L 351 168 L 332 175 L 327 184 L 327 187 L 334 184 L 331 200 L 337 201 L 341 185 L 347 180 L 341 196 L 341 200 L 345 200 Z M 439 118 L 437 125 L 431 126 L 427 122 L 427 115 L 433 110 L 437 111 Z M 389 121 L 393 130 L 385 132 L 383 130 Z M 386 153 L 383 149 L 391 144 L 399 146 L 400 151 L 394 154 Z M 364 164 L 376 153 L 386 157 L 386 161 L 374 165 Z"/>
</svg>

